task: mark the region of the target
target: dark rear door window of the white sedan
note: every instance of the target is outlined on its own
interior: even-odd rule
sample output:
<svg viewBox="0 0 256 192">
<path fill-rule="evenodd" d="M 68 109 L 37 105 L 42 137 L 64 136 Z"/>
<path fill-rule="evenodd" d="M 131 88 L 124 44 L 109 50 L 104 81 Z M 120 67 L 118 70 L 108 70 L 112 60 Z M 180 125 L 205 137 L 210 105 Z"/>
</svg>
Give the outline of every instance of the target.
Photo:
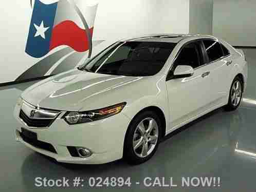
<svg viewBox="0 0 256 192">
<path fill-rule="evenodd" d="M 220 59 L 223 56 L 221 44 L 213 40 L 204 40 L 206 52 L 209 57 L 209 62 Z"/>
</svg>

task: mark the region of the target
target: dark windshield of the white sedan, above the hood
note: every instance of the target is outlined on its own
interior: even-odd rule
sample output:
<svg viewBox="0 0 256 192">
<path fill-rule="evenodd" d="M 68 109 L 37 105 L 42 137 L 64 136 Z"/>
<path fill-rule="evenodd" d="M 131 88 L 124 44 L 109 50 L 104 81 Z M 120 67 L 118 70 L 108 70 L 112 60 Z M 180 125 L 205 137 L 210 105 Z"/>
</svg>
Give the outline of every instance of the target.
<svg viewBox="0 0 256 192">
<path fill-rule="evenodd" d="M 175 43 L 166 42 L 118 42 L 94 57 L 81 70 L 126 76 L 155 75 L 175 46 Z"/>
</svg>

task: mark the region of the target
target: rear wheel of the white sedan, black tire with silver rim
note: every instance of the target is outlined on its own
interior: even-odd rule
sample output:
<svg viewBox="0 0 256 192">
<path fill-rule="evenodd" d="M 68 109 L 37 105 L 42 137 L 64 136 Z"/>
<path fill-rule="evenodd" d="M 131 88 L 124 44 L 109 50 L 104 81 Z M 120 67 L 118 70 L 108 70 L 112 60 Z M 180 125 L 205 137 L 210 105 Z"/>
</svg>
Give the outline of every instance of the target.
<svg viewBox="0 0 256 192">
<path fill-rule="evenodd" d="M 239 107 L 243 99 L 243 87 L 243 80 L 236 76 L 230 87 L 228 104 L 224 107 L 226 111 L 233 111 Z"/>
</svg>

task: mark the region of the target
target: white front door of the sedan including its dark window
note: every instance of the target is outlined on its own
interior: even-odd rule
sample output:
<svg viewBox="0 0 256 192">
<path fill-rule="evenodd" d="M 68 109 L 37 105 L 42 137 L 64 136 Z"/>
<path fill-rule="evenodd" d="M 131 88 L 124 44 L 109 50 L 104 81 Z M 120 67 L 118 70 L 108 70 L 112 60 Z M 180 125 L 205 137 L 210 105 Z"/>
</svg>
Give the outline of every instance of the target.
<svg viewBox="0 0 256 192">
<path fill-rule="evenodd" d="M 179 51 L 171 71 L 178 65 L 189 65 L 193 67 L 194 74 L 189 78 L 171 78 L 166 82 L 170 128 L 193 118 L 211 101 L 210 66 L 204 64 L 201 41 L 188 43 Z"/>
</svg>

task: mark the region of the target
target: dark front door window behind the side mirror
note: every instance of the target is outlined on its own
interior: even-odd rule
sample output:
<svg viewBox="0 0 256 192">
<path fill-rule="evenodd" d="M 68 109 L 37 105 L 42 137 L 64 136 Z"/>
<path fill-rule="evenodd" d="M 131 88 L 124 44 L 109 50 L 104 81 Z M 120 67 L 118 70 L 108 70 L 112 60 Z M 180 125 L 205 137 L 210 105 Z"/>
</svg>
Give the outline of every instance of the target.
<svg viewBox="0 0 256 192">
<path fill-rule="evenodd" d="M 193 68 L 197 68 L 202 63 L 202 52 L 197 42 L 189 43 L 185 45 L 178 54 L 174 65 L 189 65 Z"/>
</svg>

